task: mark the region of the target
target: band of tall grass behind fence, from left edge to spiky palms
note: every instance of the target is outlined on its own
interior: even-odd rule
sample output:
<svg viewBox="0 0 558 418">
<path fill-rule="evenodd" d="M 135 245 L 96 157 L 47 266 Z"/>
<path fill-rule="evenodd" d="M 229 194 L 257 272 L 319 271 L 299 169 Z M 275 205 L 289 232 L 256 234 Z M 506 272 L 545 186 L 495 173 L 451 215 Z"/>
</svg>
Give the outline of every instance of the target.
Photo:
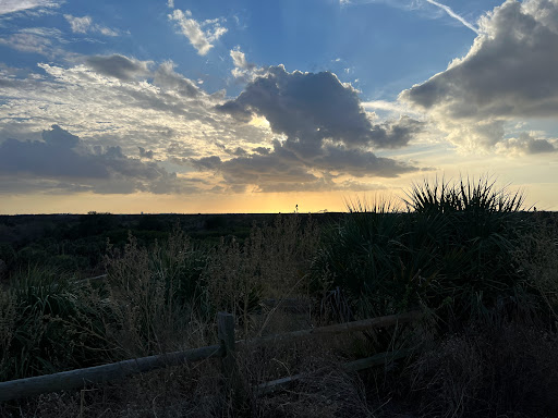
<svg viewBox="0 0 558 418">
<path fill-rule="evenodd" d="M 202 247 L 180 230 L 150 248 L 130 235 L 108 246 L 107 279 L 75 282 L 51 268 L 29 268 L 0 294 L 0 379 L 94 366 L 215 342 L 218 310 L 250 314 L 264 297 L 304 293 L 317 226 L 298 216 L 254 226 Z"/>
</svg>

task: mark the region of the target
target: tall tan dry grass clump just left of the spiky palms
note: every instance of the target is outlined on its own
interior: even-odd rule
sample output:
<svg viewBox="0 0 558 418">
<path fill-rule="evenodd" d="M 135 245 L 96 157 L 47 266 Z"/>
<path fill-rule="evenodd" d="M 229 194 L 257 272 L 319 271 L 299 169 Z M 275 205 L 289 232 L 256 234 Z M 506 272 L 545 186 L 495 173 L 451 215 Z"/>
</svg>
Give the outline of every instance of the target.
<svg viewBox="0 0 558 418">
<path fill-rule="evenodd" d="M 316 223 L 296 214 L 278 216 L 272 225 L 254 228 L 241 245 L 221 238 L 204 271 L 208 304 L 234 312 L 248 334 L 250 314 L 264 297 L 281 298 L 307 292 L 305 274 L 318 245 Z"/>
</svg>

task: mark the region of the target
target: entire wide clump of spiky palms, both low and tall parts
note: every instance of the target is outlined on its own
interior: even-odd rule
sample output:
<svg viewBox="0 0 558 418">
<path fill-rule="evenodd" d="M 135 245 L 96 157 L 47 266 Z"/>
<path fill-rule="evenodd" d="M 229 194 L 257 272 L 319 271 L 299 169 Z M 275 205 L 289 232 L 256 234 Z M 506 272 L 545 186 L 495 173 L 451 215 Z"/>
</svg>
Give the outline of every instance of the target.
<svg viewBox="0 0 558 418">
<path fill-rule="evenodd" d="M 478 181 L 424 181 L 392 204 L 356 204 L 332 226 L 314 265 L 366 315 L 422 304 L 448 323 L 492 315 L 534 296 L 513 255 L 524 197 Z M 531 293 L 530 293 L 531 292 Z M 536 296 L 535 296 L 536 297 Z"/>
</svg>

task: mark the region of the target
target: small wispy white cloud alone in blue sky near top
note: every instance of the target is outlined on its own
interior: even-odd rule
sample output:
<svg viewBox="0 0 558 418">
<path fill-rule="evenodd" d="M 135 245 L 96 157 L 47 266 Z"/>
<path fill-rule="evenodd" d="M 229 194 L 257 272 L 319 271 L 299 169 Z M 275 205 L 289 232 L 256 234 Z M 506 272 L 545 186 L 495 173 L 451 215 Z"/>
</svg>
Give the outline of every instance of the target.
<svg viewBox="0 0 558 418">
<path fill-rule="evenodd" d="M 213 42 L 227 33 L 227 28 L 220 25 L 222 20 L 215 19 L 199 23 L 192 19 L 190 10 L 182 12 L 179 9 L 174 9 L 168 17 L 170 21 L 177 22 L 181 33 L 190 40 L 201 56 L 207 54 L 214 47 Z"/>
</svg>

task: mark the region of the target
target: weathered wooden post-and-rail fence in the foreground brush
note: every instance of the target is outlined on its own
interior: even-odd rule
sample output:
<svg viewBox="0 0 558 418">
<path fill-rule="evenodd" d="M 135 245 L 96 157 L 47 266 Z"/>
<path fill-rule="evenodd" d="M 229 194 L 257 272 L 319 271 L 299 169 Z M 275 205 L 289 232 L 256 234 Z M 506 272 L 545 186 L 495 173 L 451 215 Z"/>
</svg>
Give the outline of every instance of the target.
<svg viewBox="0 0 558 418">
<path fill-rule="evenodd" d="M 57 392 L 61 390 L 82 388 L 85 384 L 102 383 L 122 379 L 126 376 L 143 373 L 167 366 L 177 366 L 183 362 L 199 361 L 208 358 L 220 358 L 222 374 L 229 388 L 239 388 L 239 370 L 236 365 L 236 347 L 263 345 L 277 342 L 292 342 L 311 339 L 319 335 L 335 335 L 345 332 L 364 331 L 373 328 L 396 325 L 418 319 L 421 312 L 412 311 L 401 315 L 365 319 L 362 321 L 345 322 L 329 327 L 313 328 L 310 330 L 294 331 L 252 340 L 235 341 L 234 318 L 231 314 L 219 312 L 217 318 L 219 344 L 193 348 L 184 352 L 167 353 L 157 356 L 142 357 L 130 360 L 112 362 L 109 365 L 88 367 L 62 371 L 60 373 L 38 376 L 34 378 L 0 382 L 0 402 L 21 397 L 35 396 L 41 393 Z M 373 357 L 359 359 L 343 365 L 348 371 L 362 370 L 375 365 L 385 364 L 405 356 L 405 352 L 381 353 Z M 277 391 L 292 383 L 301 376 L 292 376 L 263 383 L 254 388 L 256 394 L 266 394 Z"/>
</svg>

